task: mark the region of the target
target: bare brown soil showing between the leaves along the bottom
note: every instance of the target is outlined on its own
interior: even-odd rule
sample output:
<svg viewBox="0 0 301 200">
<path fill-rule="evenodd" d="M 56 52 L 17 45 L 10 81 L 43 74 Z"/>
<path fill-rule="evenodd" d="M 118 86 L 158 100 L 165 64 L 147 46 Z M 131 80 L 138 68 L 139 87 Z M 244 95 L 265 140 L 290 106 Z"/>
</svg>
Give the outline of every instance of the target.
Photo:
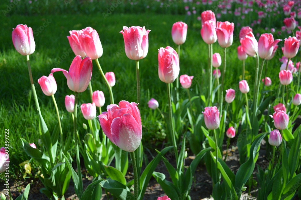
<svg viewBox="0 0 301 200">
<path fill-rule="evenodd" d="M 223 146 L 223 149 L 226 149 L 226 146 Z M 225 156 L 226 150 L 223 150 L 223 154 Z M 194 159 L 194 157 L 195 157 L 194 155 L 188 155 L 188 157 L 185 160 L 185 165 L 189 165 L 191 163 L 191 161 Z M 148 155 L 148 158 L 149 158 L 149 160 L 151 160 L 151 155 Z M 175 161 L 172 162 L 172 160 L 174 160 L 174 159 L 171 159 L 170 162 L 173 166 L 175 166 Z M 261 148 L 259 151 L 259 158 L 256 163 L 256 168 L 258 165 L 260 167 L 265 167 L 265 166 L 267 166 L 266 165 L 267 163 L 268 163 L 268 161 L 265 158 L 265 141 L 262 141 L 262 145 L 261 145 Z M 239 153 L 237 150 L 237 146 L 230 145 L 230 148 L 228 149 L 228 156 L 226 159 L 226 164 L 230 167 L 231 171 L 233 171 L 234 174 L 236 174 L 236 172 L 240 166 Z M 155 171 L 165 174 L 166 179 L 170 180 L 169 173 L 166 170 L 165 165 L 163 164 L 163 165 L 158 165 L 158 166 L 164 166 L 164 167 L 157 167 Z M 255 175 L 255 172 L 257 172 L 256 168 L 253 172 L 253 179 L 256 178 L 256 175 Z M 133 178 L 132 174 L 130 173 L 130 171 L 132 171 L 131 166 L 129 166 L 128 171 L 129 171 L 129 173 L 127 174 L 126 178 L 130 180 Z M 92 183 L 93 177 L 89 176 L 89 174 L 85 170 L 82 170 L 82 172 L 83 172 L 83 175 L 85 175 L 85 178 L 83 178 L 83 185 L 84 185 L 84 189 L 85 189 L 90 183 Z M 31 183 L 31 188 L 30 188 L 29 197 L 28 197 L 30 200 L 44 200 L 44 199 L 48 200 L 46 195 L 39 192 L 39 189 L 41 189 L 43 187 L 43 184 L 38 178 L 33 179 L 33 180 L 26 180 L 26 181 L 20 181 L 20 180 L 11 181 L 10 189 L 11 189 L 13 199 L 17 198 L 17 196 L 19 196 L 20 194 L 22 194 L 24 192 L 24 189 L 28 183 Z M 3 184 L 1 184 L 1 187 L 2 186 L 3 186 Z M 3 188 L 0 188 L 0 192 L 4 192 Z M 248 189 L 247 189 L 245 194 L 242 195 L 241 199 L 256 199 L 254 196 L 256 196 L 257 189 L 254 186 L 250 189 L 249 192 L 250 192 L 250 194 L 248 194 Z M 211 193 L 212 193 L 211 177 L 207 173 L 205 165 L 199 165 L 194 174 L 194 181 L 193 181 L 191 191 L 190 191 L 191 199 L 193 199 L 193 200 L 213 199 L 212 197 L 210 197 Z M 148 183 L 148 186 L 147 186 L 147 189 L 146 189 L 143 199 L 145 199 L 145 200 L 157 199 L 158 196 L 163 196 L 163 195 L 165 195 L 164 191 L 162 190 L 160 185 L 157 183 L 157 181 L 152 177 L 150 182 Z M 77 198 L 77 196 L 75 194 L 72 179 L 70 181 L 70 186 L 69 186 L 67 192 L 65 193 L 65 199 L 66 200 L 78 200 L 79 199 L 79 198 Z M 113 197 L 111 195 L 107 196 L 106 194 L 104 194 L 104 191 L 103 191 L 103 197 L 101 199 L 107 200 L 107 199 L 113 199 Z"/>
</svg>

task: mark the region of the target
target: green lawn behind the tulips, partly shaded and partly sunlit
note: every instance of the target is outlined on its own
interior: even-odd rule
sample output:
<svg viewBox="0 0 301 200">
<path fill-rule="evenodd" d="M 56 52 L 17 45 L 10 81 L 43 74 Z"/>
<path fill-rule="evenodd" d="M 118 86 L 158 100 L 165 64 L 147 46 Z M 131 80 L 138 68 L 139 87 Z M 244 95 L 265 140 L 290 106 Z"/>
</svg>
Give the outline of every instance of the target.
<svg viewBox="0 0 301 200">
<path fill-rule="evenodd" d="M 116 85 L 113 87 L 115 102 L 120 100 L 128 100 L 136 102 L 136 74 L 135 61 L 126 57 L 124 52 L 123 36 L 119 31 L 123 26 L 146 26 L 150 29 L 149 33 L 149 51 L 147 57 L 140 61 L 140 77 L 141 77 L 141 118 L 143 123 L 143 142 L 144 146 L 151 148 L 156 138 L 164 136 L 157 135 L 158 132 L 164 132 L 165 124 L 158 112 L 154 112 L 147 106 L 147 101 L 154 97 L 158 100 L 160 108 L 163 112 L 168 111 L 166 84 L 161 82 L 158 77 L 158 49 L 160 47 L 172 46 L 177 48 L 171 38 L 172 24 L 177 21 L 185 21 L 184 15 L 154 15 L 154 14 L 112 14 L 106 19 L 102 14 L 98 15 L 48 15 L 48 16 L 11 16 L 3 18 L 2 31 L 0 32 L 0 125 L 2 131 L 0 135 L 3 137 L 4 129 L 9 129 L 10 142 L 10 159 L 11 172 L 18 176 L 21 168 L 19 163 L 29 159 L 23 151 L 20 137 L 25 138 L 30 143 L 38 144 L 38 127 L 39 119 L 36 115 L 33 97 L 31 95 L 31 87 L 29 82 L 28 69 L 26 66 L 26 57 L 20 55 L 15 49 L 11 41 L 11 31 L 17 24 L 23 23 L 32 27 L 36 42 L 36 51 L 30 55 L 30 63 L 32 66 L 33 79 L 35 82 L 39 103 L 41 105 L 42 115 L 48 128 L 52 131 L 57 123 L 56 113 L 51 97 L 45 96 L 40 89 L 37 80 L 42 75 L 49 75 L 50 70 L 54 67 L 69 69 L 70 64 L 75 57 L 73 52 L 70 53 L 70 45 L 67 40 L 69 30 L 79 30 L 87 26 L 96 29 L 104 54 L 99 59 L 104 72 L 113 71 L 116 75 Z M 48 25 L 45 25 L 47 22 Z M 43 23 L 45 26 L 43 26 Z M 260 30 L 257 30 L 260 31 Z M 236 48 L 240 45 L 237 35 L 239 29 L 235 29 L 234 43 L 227 50 L 227 71 L 225 89 L 233 88 L 239 94 L 238 81 L 239 75 L 242 73 L 242 61 L 237 59 Z M 255 32 L 255 31 L 254 31 Z M 281 43 L 282 44 L 282 43 Z M 281 45 L 280 44 L 280 45 Z M 282 44 L 283 45 L 283 44 Z M 191 94 L 196 94 L 196 85 L 207 87 L 203 80 L 208 76 L 201 75 L 201 69 L 207 67 L 207 51 L 208 46 L 200 36 L 200 23 L 196 21 L 188 27 L 188 35 L 186 42 L 181 46 L 180 57 L 180 75 L 194 75 Z M 223 49 L 218 42 L 213 44 L 213 53 L 219 52 L 223 55 Z M 278 72 L 280 62 L 278 58 L 281 56 L 280 50 L 276 53 L 268 63 L 267 76 L 270 76 L 272 82 L 278 81 Z M 58 61 L 61 60 L 58 63 Z M 93 62 L 92 87 L 94 90 L 102 90 L 106 97 L 106 105 L 110 103 L 107 87 L 101 78 L 100 73 Z M 246 62 L 246 70 L 249 72 L 250 91 L 253 90 L 253 80 L 255 76 L 256 59 L 248 58 Z M 222 69 L 220 67 L 220 69 Z M 272 70 L 271 70 L 272 69 Z M 56 72 L 54 77 L 57 82 L 57 92 L 54 95 L 63 115 L 63 132 L 65 137 L 70 137 L 73 124 L 71 122 L 70 113 L 65 110 L 65 95 L 73 94 L 67 87 L 67 81 L 63 73 Z M 277 86 L 274 85 L 276 88 Z M 277 89 L 277 88 L 276 88 Z M 182 89 L 181 89 L 182 90 Z M 199 88 L 202 92 L 205 88 Z M 186 94 L 184 94 L 184 98 Z M 252 95 L 252 94 L 250 94 Z M 253 96 L 250 96 L 253 97 Z M 91 102 L 89 91 L 82 93 L 80 103 Z M 105 110 L 105 106 L 103 110 Z M 198 113 L 200 114 L 200 113 Z M 78 114 L 78 124 L 81 137 L 85 131 L 82 123 L 86 123 L 81 113 Z M 0 146 L 4 146 L 4 139 L 0 140 Z"/>
</svg>

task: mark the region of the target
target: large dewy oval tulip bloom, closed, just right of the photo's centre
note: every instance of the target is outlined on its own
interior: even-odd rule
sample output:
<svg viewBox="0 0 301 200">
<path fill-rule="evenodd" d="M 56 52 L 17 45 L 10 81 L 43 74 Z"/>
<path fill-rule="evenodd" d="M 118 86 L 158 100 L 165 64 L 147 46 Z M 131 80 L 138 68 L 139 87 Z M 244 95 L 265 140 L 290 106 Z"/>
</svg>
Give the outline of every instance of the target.
<svg viewBox="0 0 301 200">
<path fill-rule="evenodd" d="M 179 57 L 177 52 L 171 48 L 161 47 L 158 53 L 159 78 L 165 83 L 172 83 L 180 72 Z"/>
</svg>

